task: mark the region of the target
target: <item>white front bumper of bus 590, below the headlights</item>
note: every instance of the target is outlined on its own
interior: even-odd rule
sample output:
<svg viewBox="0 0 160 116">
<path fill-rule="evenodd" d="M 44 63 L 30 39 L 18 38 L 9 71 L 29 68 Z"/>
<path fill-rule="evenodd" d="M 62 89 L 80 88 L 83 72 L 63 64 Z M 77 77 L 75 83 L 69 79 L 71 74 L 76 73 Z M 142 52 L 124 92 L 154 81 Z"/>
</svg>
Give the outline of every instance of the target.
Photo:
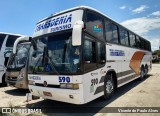
<svg viewBox="0 0 160 116">
<path fill-rule="evenodd" d="M 61 89 L 61 88 L 49 88 L 39 87 L 34 85 L 28 85 L 32 95 L 42 97 L 44 99 L 51 99 L 61 102 L 67 102 L 72 104 L 84 104 L 83 93 L 80 94 L 80 90 Z"/>
</svg>

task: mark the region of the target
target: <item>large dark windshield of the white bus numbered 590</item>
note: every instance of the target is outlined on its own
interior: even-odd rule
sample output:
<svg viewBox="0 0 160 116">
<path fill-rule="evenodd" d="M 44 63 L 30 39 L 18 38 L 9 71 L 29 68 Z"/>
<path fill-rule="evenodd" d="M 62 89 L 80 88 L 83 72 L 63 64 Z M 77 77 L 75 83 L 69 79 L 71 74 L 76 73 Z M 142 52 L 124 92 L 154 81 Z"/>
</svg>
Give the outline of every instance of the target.
<svg viewBox="0 0 160 116">
<path fill-rule="evenodd" d="M 71 38 L 71 32 L 36 38 L 37 50 L 30 50 L 29 73 L 79 72 L 80 47 L 72 46 Z"/>
</svg>

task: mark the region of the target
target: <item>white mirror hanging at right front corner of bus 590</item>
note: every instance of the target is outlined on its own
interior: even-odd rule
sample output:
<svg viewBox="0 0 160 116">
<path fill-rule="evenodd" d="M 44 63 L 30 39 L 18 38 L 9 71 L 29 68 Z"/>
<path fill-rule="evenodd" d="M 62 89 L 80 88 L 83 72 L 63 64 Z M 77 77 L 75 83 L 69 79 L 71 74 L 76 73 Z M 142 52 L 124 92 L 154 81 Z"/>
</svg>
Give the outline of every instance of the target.
<svg viewBox="0 0 160 116">
<path fill-rule="evenodd" d="M 84 27 L 83 21 L 76 21 L 73 25 L 72 31 L 72 45 L 80 46 L 82 40 L 82 28 Z"/>
</svg>

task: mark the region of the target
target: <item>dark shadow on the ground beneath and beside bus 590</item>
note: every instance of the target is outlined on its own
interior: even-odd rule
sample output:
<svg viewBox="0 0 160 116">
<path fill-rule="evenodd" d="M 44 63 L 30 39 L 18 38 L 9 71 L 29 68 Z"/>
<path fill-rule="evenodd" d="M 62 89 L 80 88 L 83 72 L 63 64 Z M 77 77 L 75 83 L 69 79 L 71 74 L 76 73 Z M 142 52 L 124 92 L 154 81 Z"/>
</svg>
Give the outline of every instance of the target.
<svg viewBox="0 0 160 116">
<path fill-rule="evenodd" d="M 131 90 L 132 88 L 138 86 L 140 83 L 146 81 L 150 76 L 148 75 L 143 81 L 136 79 L 120 88 L 114 93 L 112 98 L 109 100 L 103 100 L 98 98 L 92 102 L 89 102 L 84 105 L 74 105 L 69 103 L 63 103 L 53 100 L 42 100 L 36 103 L 27 104 L 27 108 L 41 108 L 44 114 L 54 113 L 54 116 L 57 115 L 84 115 L 79 113 L 87 113 L 87 115 L 93 116 L 94 114 L 101 112 L 105 106 L 107 106 L 112 101 L 118 99 L 120 96 Z M 115 106 L 116 107 L 116 106 Z M 104 110 L 103 110 L 104 111 Z M 49 114 L 51 115 L 51 114 Z"/>
</svg>

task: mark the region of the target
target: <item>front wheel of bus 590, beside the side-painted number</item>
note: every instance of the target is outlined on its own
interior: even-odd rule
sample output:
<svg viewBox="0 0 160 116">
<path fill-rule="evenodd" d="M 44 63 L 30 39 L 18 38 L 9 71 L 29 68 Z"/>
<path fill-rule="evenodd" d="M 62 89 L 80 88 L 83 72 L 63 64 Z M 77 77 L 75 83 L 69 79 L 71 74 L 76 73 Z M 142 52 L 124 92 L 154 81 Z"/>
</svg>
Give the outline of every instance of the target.
<svg viewBox="0 0 160 116">
<path fill-rule="evenodd" d="M 111 98 L 114 93 L 114 80 L 112 74 L 107 75 L 104 79 L 104 99 Z"/>
</svg>

